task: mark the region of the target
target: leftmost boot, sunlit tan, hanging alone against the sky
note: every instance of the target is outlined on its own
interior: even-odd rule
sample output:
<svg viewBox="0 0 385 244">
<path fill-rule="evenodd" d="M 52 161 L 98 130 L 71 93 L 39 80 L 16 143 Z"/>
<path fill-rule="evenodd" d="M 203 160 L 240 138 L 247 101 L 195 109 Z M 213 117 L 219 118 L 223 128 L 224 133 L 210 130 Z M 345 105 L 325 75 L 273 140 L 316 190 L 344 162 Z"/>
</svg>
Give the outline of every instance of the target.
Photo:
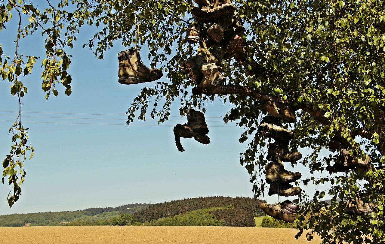
<svg viewBox="0 0 385 244">
<path fill-rule="evenodd" d="M 119 83 L 136 84 L 158 80 L 163 73 L 159 69 L 149 69 L 143 65 L 139 50 L 131 48 L 118 53 L 119 60 Z"/>
</svg>

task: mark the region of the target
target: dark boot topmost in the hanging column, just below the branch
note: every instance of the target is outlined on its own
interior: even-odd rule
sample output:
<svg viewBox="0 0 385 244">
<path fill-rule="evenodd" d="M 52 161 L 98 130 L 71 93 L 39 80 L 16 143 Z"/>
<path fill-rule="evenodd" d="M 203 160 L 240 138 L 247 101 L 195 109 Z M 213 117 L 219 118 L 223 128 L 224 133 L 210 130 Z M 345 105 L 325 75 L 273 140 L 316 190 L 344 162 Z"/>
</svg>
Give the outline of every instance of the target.
<svg viewBox="0 0 385 244">
<path fill-rule="evenodd" d="M 262 136 L 276 139 L 278 141 L 287 141 L 294 137 L 293 131 L 284 129 L 277 125 L 278 121 L 271 115 L 265 116 L 258 126 L 258 133 Z"/>
</svg>

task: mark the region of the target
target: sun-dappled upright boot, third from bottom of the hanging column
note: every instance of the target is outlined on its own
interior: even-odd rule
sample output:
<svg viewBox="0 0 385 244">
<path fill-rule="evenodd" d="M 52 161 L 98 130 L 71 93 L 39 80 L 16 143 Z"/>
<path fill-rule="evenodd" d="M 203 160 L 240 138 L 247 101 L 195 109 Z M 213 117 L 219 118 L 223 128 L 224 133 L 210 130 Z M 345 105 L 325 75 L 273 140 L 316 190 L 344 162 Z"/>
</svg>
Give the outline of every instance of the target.
<svg viewBox="0 0 385 244">
<path fill-rule="evenodd" d="M 301 173 L 287 171 L 281 160 L 268 163 L 265 166 L 266 183 L 290 183 L 301 178 Z"/>
</svg>

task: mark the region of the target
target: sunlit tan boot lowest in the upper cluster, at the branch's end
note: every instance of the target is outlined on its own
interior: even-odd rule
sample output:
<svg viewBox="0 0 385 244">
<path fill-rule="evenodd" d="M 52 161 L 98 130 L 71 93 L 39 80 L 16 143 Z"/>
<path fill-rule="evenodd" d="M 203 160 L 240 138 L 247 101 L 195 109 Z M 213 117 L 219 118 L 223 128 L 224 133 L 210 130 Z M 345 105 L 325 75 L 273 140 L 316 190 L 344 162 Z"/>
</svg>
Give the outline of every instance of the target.
<svg viewBox="0 0 385 244">
<path fill-rule="evenodd" d="M 215 63 L 204 63 L 202 65 L 203 79 L 198 86 L 192 88 L 192 94 L 199 95 L 206 93 L 216 86 L 223 85 L 226 81 Z"/>
</svg>

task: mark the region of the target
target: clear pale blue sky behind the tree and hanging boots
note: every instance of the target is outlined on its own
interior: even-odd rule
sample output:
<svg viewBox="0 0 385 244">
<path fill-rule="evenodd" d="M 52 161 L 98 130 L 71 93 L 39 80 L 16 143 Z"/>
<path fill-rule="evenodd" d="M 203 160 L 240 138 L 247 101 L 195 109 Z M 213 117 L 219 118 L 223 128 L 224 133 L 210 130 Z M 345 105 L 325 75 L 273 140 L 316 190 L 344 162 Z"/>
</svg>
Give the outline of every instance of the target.
<svg viewBox="0 0 385 244">
<path fill-rule="evenodd" d="M 13 21 L 17 21 L 15 16 Z M 13 56 L 16 32 L 10 25 L 7 29 L 0 32 L 0 43 L 3 51 Z M 12 208 L 6 201 L 12 188 L 0 184 L 0 215 L 162 203 L 202 196 L 253 197 L 250 176 L 239 163 L 239 154 L 247 146 L 238 142 L 243 129 L 235 123 L 224 124 L 221 118 L 231 107 L 220 99 L 207 103 L 205 116 L 211 143 L 203 145 L 192 138 L 181 138 L 184 152 L 176 148 L 172 132 L 176 124 L 187 123 L 187 118 L 179 115 L 177 103 L 166 123 L 158 125 L 157 120 L 148 117 L 146 121 L 135 120 L 127 128 L 127 108 L 143 87 L 152 84 L 119 84 L 117 53 L 130 47 L 116 41 L 104 60 L 97 60 L 89 48 L 82 48 L 91 35 L 90 31 L 81 32 L 74 48 L 66 50 L 73 55 L 69 69 L 72 94 L 65 95 L 63 86 L 56 85 L 59 96 L 51 94 L 48 101 L 41 89 L 39 70 L 44 43 L 35 38 L 19 43 L 19 53 L 40 57 L 32 75 L 20 77 L 28 88 L 22 98 L 22 121 L 25 128 L 30 128 L 28 144 L 35 153 L 24 162 L 27 175 L 21 185 L 22 196 Z M 142 46 L 141 58 L 149 67 L 146 52 Z M 167 82 L 166 75 L 160 81 Z M 8 86 L 7 80 L 0 81 L 1 161 L 10 151 L 8 129 L 18 111 L 17 97 L 10 94 Z M 303 149 L 301 153 L 304 157 L 308 151 Z M 286 163 L 285 167 L 300 171 L 301 179 L 310 177 L 303 166 L 294 169 Z M 308 194 L 315 190 L 314 186 L 300 186 Z M 267 191 L 261 199 L 278 202 L 278 196 L 268 196 Z"/>
</svg>

